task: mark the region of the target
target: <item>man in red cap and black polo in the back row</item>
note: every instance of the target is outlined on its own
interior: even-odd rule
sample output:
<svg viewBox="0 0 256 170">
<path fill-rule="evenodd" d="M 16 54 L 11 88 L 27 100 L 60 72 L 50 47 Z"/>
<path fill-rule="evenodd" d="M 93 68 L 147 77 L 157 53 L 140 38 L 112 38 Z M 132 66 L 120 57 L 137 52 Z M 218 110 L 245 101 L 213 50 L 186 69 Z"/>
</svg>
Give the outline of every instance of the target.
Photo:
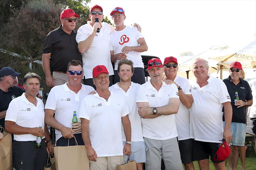
<svg viewBox="0 0 256 170">
<path fill-rule="evenodd" d="M 78 17 L 79 15 L 70 8 L 63 10 L 60 13 L 60 27 L 48 33 L 44 39 L 42 61 L 46 84 L 49 87 L 63 85 L 68 82 L 66 72 L 71 60 L 82 62 L 82 55 L 78 51 L 76 42 L 77 31 L 74 30 Z M 53 69 L 52 75 L 50 57 Z"/>
</svg>

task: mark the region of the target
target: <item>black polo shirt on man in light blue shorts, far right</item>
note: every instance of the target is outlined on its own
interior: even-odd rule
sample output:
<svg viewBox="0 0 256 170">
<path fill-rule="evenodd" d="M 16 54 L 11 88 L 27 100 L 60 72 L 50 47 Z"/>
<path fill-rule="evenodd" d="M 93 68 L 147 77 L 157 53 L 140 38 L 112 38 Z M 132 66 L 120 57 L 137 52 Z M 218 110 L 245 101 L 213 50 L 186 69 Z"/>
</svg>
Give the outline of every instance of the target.
<svg viewBox="0 0 256 170">
<path fill-rule="evenodd" d="M 238 123 L 245 123 L 246 124 L 246 109 L 244 107 L 235 106 L 235 94 L 238 92 L 239 100 L 245 101 L 245 100 L 252 100 L 252 89 L 249 85 L 249 83 L 242 78 L 240 78 L 240 82 L 235 85 L 231 81 L 231 77 L 229 76 L 226 79 L 223 79 L 223 82 L 227 86 L 228 94 L 231 99 L 231 106 L 233 110 L 232 115 L 232 122 L 238 122 Z M 225 113 L 224 108 L 222 111 Z M 222 117 L 222 120 L 225 121 L 224 115 Z"/>
</svg>

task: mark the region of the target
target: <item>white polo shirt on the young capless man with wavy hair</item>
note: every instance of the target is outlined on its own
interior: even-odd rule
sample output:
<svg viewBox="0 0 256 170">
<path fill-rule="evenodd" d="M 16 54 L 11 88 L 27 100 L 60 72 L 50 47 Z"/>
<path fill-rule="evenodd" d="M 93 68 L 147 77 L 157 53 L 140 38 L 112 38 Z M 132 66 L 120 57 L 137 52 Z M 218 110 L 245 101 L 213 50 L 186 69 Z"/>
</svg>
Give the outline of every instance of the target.
<svg viewBox="0 0 256 170">
<path fill-rule="evenodd" d="M 139 87 L 140 87 L 140 84 L 133 83 L 133 82 L 131 82 L 131 85 L 127 90 L 127 92 L 125 92 L 122 88 L 120 88 L 117 85 L 117 83 L 109 87 L 110 91 L 116 92 L 119 95 L 123 96 L 125 102 L 128 104 L 128 108 L 130 110 L 130 113 L 128 116 L 129 116 L 129 119 L 131 122 L 131 128 L 132 128 L 132 142 L 140 142 L 140 141 L 144 142 L 144 139 L 142 136 L 141 119 L 140 119 L 140 115 L 138 114 L 138 107 L 136 105 L 136 92 Z M 123 135 L 123 141 L 126 141 L 123 125 L 122 125 L 122 135 Z"/>
</svg>

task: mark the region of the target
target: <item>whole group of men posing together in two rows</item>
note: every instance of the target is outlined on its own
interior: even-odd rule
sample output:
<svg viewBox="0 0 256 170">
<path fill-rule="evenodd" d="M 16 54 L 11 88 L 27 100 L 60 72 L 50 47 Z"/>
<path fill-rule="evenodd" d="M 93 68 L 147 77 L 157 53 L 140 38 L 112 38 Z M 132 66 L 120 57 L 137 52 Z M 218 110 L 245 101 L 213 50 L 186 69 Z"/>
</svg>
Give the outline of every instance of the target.
<svg viewBox="0 0 256 170">
<path fill-rule="evenodd" d="M 236 169 L 237 148 L 244 145 L 245 108 L 252 105 L 241 64 L 231 63 L 230 76 L 222 81 L 208 74 L 206 60 L 196 58 L 195 82 L 189 82 L 177 75 L 175 57 L 166 57 L 164 63 L 153 58 L 145 82 L 140 52 L 148 47 L 143 36 L 124 25 L 122 8 L 110 15 L 116 28 L 101 22 L 103 10 L 95 5 L 91 21 L 76 32 L 79 16 L 71 9 L 61 12 L 62 25 L 44 41 L 43 68 L 47 85 L 53 87 L 45 107 L 36 97 L 39 75 L 24 77 L 23 93 L 14 86 L 20 73 L 8 67 L 0 70 L 1 100 L 6 103 L 0 118 L 5 117 L 5 130 L 14 134 L 14 167 L 43 169 L 46 151 L 53 153 L 54 147 L 49 125 L 55 129 L 56 146 L 67 146 L 68 141 L 75 145 L 74 137 L 85 145 L 91 169 L 116 169 L 128 155 L 138 170 L 143 163 L 146 169 L 160 169 L 161 159 L 170 170 L 183 169 L 182 163 L 195 169 L 195 160 L 200 169 L 209 169 L 209 156 L 216 169 L 226 169 L 224 161 L 214 160 L 222 138 L 232 143 L 229 165 Z M 74 111 L 78 122 L 72 124 Z M 41 148 L 35 147 L 36 136 L 46 142 Z"/>
</svg>

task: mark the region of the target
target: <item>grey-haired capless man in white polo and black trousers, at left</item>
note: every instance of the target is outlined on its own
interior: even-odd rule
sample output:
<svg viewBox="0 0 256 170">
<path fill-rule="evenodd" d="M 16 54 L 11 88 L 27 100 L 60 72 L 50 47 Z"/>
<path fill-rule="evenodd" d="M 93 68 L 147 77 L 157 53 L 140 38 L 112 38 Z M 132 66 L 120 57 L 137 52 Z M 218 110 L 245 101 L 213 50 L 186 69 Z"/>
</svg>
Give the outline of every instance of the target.
<svg viewBox="0 0 256 170">
<path fill-rule="evenodd" d="M 46 144 L 44 132 L 44 103 L 36 97 L 41 77 L 28 73 L 24 77 L 26 92 L 13 99 L 7 109 L 5 130 L 14 134 L 13 157 L 15 169 L 44 169 Z M 36 147 L 40 143 L 40 147 Z"/>
</svg>

